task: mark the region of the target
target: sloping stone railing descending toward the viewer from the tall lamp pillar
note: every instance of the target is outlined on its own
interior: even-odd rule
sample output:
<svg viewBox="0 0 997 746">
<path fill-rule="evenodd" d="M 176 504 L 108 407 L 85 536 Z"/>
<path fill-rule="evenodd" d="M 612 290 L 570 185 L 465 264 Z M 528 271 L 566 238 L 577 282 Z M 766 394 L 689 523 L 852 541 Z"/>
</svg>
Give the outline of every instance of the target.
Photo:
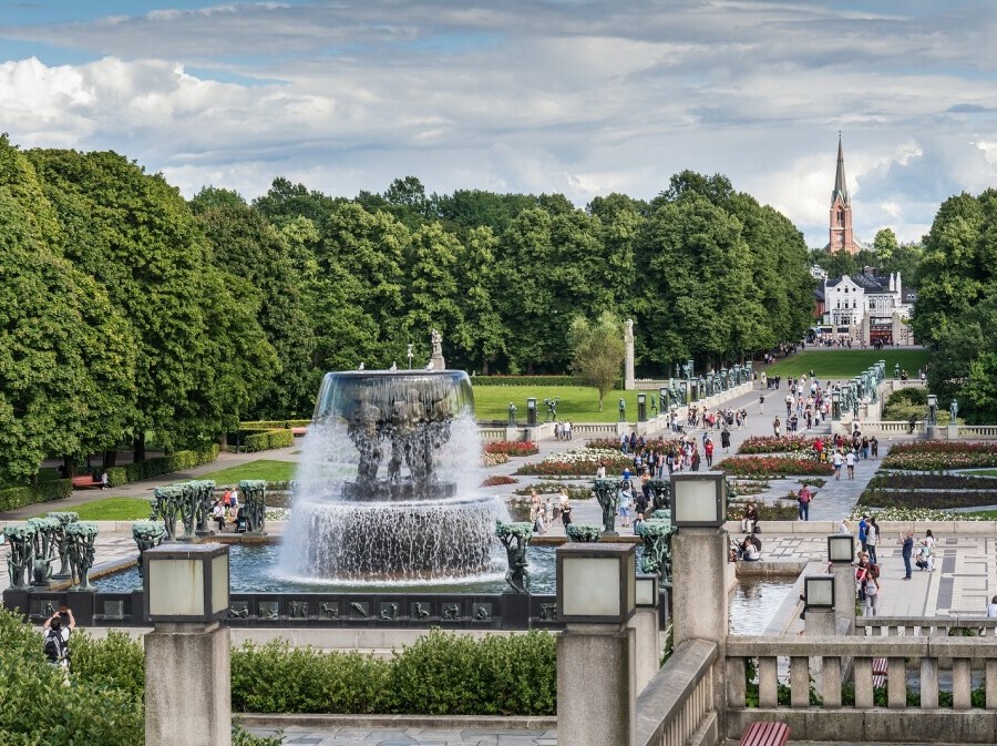
<svg viewBox="0 0 997 746">
<path fill-rule="evenodd" d="M 713 692 L 717 646 L 695 640 L 675 650 L 637 697 L 638 746 L 713 746 L 720 740 Z"/>
</svg>

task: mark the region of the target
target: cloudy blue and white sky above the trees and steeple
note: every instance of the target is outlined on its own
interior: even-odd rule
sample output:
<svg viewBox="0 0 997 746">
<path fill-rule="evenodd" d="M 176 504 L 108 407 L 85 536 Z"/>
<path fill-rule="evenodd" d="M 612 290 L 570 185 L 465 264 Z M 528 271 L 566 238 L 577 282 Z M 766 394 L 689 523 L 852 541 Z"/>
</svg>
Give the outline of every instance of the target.
<svg viewBox="0 0 997 746">
<path fill-rule="evenodd" d="M 652 197 L 724 173 L 828 241 L 918 239 L 997 186 L 993 0 L 0 0 L 0 131 L 114 150 L 192 196 Z"/>
</svg>

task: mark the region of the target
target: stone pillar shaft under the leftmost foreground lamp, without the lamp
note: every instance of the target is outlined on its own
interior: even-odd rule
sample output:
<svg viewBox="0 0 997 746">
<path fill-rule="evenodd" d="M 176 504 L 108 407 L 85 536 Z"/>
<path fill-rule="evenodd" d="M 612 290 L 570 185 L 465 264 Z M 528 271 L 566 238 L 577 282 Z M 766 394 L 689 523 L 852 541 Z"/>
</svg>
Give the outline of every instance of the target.
<svg viewBox="0 0 997 746">
<path fill-rule="evenodd" d="M 145 635 L 146 746 L 230 746 L 228 627 L 156 623 Z"/>
</svg>

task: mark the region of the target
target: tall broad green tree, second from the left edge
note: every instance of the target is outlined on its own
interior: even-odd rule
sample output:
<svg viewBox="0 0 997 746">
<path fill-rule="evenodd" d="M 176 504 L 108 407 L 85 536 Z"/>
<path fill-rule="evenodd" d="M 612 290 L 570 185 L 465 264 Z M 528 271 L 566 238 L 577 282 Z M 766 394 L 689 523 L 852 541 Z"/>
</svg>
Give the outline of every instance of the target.
<svg viewBox="0 0 997 746">
<path fill-rule="evenodd" d="M 229 346 L 210 335 L 220 334 L 213 305 L 229 305 L 217 294 L 229 290 L 213 276 L 210 249 L 187 203 L 162 176 L 116 153 L 28 155 L 55 206 L 66 258 L 129 321 L 136 362 L 126 417 L 136 460 L 145 457 L 150 431 L 166 448 L 220 436 L 227 392 L 207 376 L 228 364 L 217 355 Z"/>
</svg>

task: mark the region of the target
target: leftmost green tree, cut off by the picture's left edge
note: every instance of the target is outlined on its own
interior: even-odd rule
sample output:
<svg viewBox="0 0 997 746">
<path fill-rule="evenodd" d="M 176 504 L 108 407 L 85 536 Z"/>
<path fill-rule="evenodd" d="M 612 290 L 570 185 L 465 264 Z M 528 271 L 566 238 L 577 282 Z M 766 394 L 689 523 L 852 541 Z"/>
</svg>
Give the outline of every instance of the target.
<svg viewBox="0 0 997 746">
<path fill-rule="evenodd" d="M 63 258 L 56 213 L 24 154 L 0 136 L 0 481 L 72 463 L 123 435 L 135 349 L 107 295 Z"/>
</svg>

